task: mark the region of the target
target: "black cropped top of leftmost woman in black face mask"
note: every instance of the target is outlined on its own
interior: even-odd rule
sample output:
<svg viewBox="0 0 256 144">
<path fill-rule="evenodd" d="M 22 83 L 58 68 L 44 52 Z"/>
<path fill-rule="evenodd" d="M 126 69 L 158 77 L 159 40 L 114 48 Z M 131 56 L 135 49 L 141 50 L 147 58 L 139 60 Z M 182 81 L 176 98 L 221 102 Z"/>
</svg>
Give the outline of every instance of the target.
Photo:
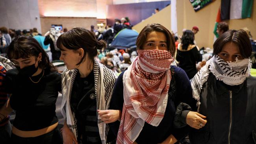
<svg viewBox="0 0 256 144">
<path fill-rule="evenodd" d="M 11 108 L 16 111 L 13 126 L 22 131 L 43 129 L 58 122 L 55 109 L 61 91 L 61 74 L 46 68 L 31 79 L 40 81 L 33 83 L 14 68 L 7 71 L 4 80 L 6 92 L 12 94 Z"/>
</svg>

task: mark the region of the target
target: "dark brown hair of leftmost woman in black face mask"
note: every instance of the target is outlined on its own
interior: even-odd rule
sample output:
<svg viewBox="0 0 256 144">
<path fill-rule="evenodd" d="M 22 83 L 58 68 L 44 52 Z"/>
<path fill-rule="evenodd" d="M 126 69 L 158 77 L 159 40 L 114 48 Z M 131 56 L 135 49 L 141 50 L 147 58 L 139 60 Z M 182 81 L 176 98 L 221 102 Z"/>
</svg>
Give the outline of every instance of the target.
<svg viewBox="0 0 256 144">
<path fill-rule="evenodd" d="M 38 63 L 40 68 L 55 69 L 50 63 L 49 57 L 45 50 L 33 37 L 19 36 L 15 38 L 7 47 L 7 56 L 9 59 L 29 58 L 31 56 L 38 57 L 42 53 L 42 61 Z"/>
</svg>

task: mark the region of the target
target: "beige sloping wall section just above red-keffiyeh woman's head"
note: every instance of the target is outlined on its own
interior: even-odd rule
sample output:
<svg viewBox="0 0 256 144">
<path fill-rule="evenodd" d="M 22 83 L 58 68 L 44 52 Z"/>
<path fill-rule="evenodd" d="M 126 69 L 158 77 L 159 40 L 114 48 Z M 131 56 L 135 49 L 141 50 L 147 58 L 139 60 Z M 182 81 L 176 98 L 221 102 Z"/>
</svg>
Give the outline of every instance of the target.
<svg viewBox="0 0 256 144">
<path fill-rule="evenodd" d="M 144 21 L 136 24 L 132 29 L 136 30 L 138 33 L 145 27 L 147 24 L 159 23 L 171 31 L 171 5 L 165 7 L 158 13 L 152 15 L 151 17 L 145 19 Z"/>
</svg>

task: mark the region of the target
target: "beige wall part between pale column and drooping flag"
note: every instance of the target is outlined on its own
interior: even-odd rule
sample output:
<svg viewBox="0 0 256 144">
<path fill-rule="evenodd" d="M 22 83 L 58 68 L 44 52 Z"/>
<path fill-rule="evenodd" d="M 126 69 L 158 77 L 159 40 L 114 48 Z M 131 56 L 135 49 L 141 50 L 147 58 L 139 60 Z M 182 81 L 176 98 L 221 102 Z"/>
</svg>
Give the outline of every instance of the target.
<svg viewBox="0 0 256 144">
<path fill-rule="evenodd" d="M 195 35 L 195 40 L 199 48 L 212 48 L 214 34 L 213 29 L 221 0 L 215 0 L 208 6 L 195 12 L 188 0 L 177 0 L 178 34 L 182 35 L 182 30 L 192 30 L 193 26 L 199 28 Z"/>
</svg>

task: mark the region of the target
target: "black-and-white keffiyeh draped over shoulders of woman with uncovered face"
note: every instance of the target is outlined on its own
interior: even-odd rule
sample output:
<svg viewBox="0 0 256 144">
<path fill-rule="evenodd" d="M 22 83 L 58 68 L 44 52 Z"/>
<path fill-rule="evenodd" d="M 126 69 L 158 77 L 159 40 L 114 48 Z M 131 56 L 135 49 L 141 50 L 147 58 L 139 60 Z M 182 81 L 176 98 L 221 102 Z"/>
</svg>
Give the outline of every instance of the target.
<svg viewBox="0 0 256 144">
<path fill-rule="evenodd" d="M 112 70 L 106 66 L 98 63 L 94 59 L 93 63 L 94 81 L 95 81 L 95 94 L 96 94 L 96 105 L 99 110 L 107 110 L 109 102 L 111 100 L 113 87 L 117 76 Z M 62 87 L 62 102 L 61 102 L 61 114 L 67 122 L 67 126 L 72 130 L 74 136 L 77 138 L 77 125 L 76 118 L 73 111 L 70 108 L 70 95 L 72 92 L 72 86 L 78 73 L 77 69 L 65 70 L 61 76 L 61 87 Z M 100 133 L 100 139 L 102 144 L 106 144 L 106 137 L 108 134 L 108 127 L 101 120 L 98 113 L 95 112 L 98 117 L 98 129 Z"/>
</svg>

